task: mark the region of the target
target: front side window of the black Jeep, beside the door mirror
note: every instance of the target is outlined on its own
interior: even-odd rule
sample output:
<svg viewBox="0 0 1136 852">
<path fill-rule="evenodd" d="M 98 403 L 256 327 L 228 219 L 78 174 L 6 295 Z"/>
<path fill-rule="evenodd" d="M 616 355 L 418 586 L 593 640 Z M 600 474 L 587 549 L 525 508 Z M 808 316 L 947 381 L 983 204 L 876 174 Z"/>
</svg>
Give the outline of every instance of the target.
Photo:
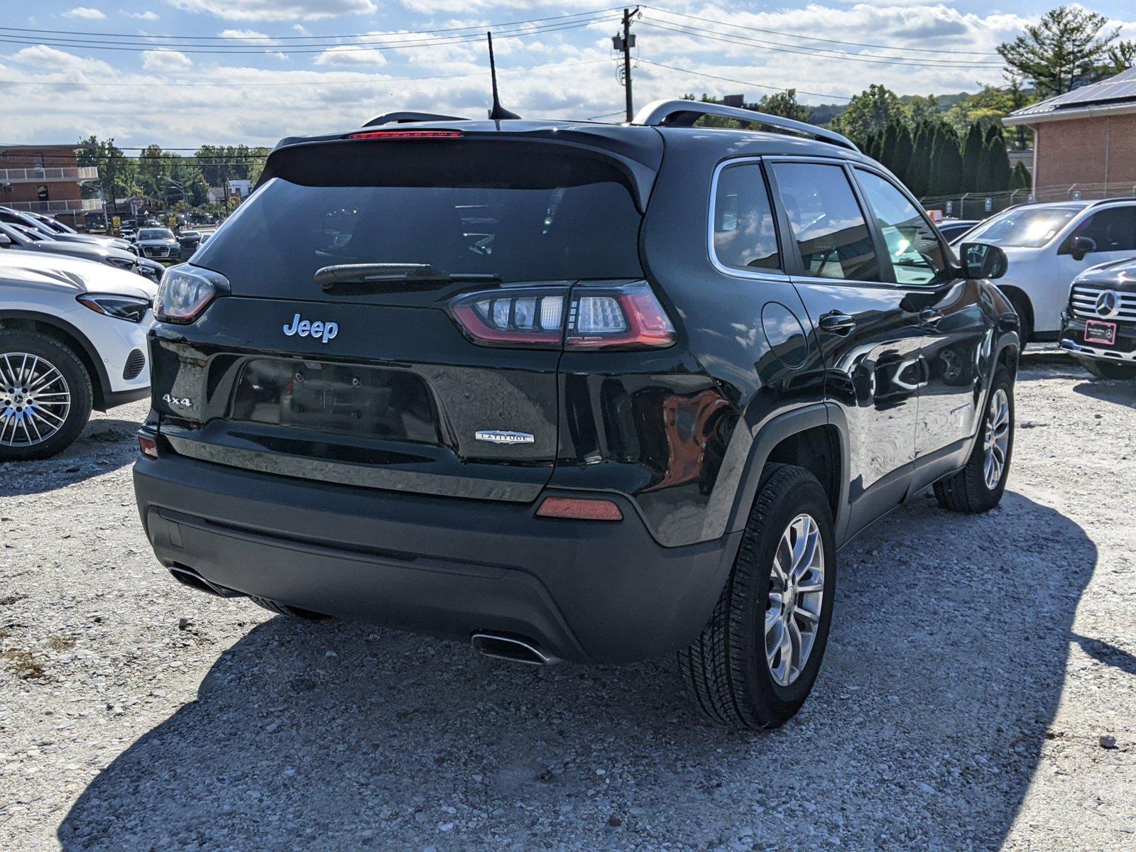
<svg viewBox="0 0 1136 852">
<path fill-rule="evenodd" d="M 857 176 L 884 234 L 896 283 L 935 285 L 951 277 L 935 228 L 907 195 L 872 172 L 857 169 Z"/>
</svg>

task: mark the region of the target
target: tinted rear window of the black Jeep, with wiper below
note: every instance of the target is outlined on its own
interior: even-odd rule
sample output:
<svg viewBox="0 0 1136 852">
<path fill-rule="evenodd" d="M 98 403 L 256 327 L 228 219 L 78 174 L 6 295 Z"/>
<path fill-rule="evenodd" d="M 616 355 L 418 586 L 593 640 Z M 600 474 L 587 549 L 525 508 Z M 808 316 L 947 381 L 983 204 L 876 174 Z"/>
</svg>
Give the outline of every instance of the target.
<svg viewBox="0 0 1136 852">
<path fill-rule="evenodd" d="M 436 182 L 418 166 L 404 178 L 389 162 L 377 177 L 348 177 L 359 185 L 342 174 L 334 185 L 314 185 L 310 173 L 273 177 L 193 262 L 260 281 L 265 295 L 269 282 L 311 281 L 339 264 L 429 264 L 506 282 L 642 276 L 641 216 L 602 162 L 548 157 L 534 173 L 501 152 L 491 167 L 446 164 Z"/>
</svg>

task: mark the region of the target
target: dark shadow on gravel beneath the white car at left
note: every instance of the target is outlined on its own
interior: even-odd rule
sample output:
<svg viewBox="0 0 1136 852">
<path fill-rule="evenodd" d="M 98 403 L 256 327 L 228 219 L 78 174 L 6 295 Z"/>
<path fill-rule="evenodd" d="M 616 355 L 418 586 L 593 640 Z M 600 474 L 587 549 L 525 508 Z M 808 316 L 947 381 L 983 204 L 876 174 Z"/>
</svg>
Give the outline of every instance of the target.
<svg viewBox="0 0 1136 852">
<path fill-rule="evenodd" d="M 125 467 L 137 456 L 137 429 L 136 420 L 100 417 L 58 456 L 0 462 L 0 496 L 43 494 Z"/>
</svg>

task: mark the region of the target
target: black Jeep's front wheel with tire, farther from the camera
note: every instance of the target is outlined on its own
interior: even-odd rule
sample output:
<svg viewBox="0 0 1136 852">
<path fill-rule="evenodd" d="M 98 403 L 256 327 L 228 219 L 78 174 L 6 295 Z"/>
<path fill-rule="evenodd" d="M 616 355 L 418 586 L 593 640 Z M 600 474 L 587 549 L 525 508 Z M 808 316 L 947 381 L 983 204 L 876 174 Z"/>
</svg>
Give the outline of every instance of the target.
<svg viewBox="0 0 1136 852">
<path fill-rule="evenodd" d="M 1004 429 L 1003 429 L 1004 426 Z M 1005 367 L 999 366 L 991 384 L 983 416 L 983 431 L 975 442 L 967 466 L 935 483 L 935 499 L 944 509 L 977 515 L 1002 501 L 1013 454 L 1013 382 Z M 995 468 L 988 467 L 993 459 Z M 994 475 L 996 474 L 996 481 Z"/>
</svg>

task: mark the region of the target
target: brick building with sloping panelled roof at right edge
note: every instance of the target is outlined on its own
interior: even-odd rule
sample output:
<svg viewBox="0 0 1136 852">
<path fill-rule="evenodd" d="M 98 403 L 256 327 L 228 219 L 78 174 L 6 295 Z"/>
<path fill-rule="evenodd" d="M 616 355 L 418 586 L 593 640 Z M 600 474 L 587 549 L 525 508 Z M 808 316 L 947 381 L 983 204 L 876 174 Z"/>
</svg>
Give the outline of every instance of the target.
<svg viewBox="0 0 1136 852">
<path fill-rule="evenodd" d="M 1038 200 L 1136 194 L 1136 68 L 1011 112 L 1034 132 Z"/>
</svg>

